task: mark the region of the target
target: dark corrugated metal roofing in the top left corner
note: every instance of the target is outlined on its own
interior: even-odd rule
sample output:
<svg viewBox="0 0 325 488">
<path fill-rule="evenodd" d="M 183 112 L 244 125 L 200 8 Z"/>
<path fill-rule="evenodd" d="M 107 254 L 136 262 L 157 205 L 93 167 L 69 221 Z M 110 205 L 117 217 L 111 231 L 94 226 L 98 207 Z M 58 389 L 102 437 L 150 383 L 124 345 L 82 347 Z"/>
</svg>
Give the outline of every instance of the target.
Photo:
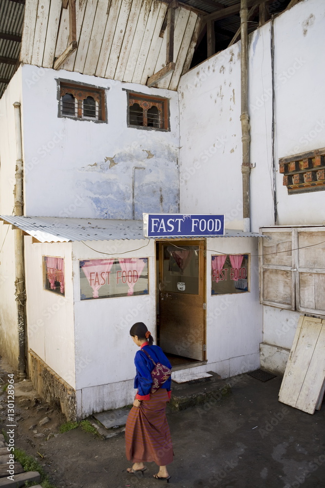
<svg viewBox="0 0 325 488">
<path fill-rule="evenodd" d="M 0 0 L 0 34 L 21 38 L 25 5 L 23 0 Z M 16 64 L 0 62 L 0 97 L 19 66 L 21 42 L 0 38 L 0 57 L 17 60 Z"/>
</svg>

